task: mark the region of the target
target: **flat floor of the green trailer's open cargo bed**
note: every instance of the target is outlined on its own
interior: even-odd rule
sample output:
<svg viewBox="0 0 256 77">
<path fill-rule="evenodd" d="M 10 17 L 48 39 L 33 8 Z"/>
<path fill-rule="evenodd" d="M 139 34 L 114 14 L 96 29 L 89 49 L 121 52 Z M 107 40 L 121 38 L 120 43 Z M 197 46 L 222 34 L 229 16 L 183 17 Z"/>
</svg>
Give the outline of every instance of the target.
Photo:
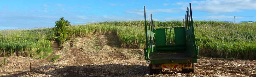
<svg viewBox="0 0 256 77">
<path fill-rule="evenodd" d="M 156 55 L 150 56 L 150 60 L 166 59 L 193 59 L 194 57 L 187 53 L 181 52 L 157 52 Z"/>
</svg>

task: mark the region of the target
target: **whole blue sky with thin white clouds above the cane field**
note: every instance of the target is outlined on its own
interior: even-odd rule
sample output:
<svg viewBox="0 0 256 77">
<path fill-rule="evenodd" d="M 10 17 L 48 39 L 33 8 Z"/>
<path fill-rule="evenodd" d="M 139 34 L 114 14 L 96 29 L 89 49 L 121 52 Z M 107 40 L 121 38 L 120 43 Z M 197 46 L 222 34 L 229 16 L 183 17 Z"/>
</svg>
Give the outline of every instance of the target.
<svg viewBox="0 0 256 77">
<path fill-rule="evenodd" d="M 60 17 L 71 24 L 143 20 L 143 6 L 154 20 L 181 21 L 192 3 L 194 20 L 233 21 L 256 16 L 256 0 L 5 0 L 0 1 L 0 29 L 54 27 Z M 238 17 L 238 21 L 256 17 Z"/>
</svg>

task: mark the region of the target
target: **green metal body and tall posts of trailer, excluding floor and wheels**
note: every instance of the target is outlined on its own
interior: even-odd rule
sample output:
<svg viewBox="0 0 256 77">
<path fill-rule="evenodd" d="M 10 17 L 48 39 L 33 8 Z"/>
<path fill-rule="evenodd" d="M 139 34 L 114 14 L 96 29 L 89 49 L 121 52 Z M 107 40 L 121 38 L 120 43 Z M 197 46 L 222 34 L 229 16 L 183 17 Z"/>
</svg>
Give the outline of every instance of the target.
<svg viewBox="0 0 256 77">
<path fill-rule="evenodd" d="M 144 48 L 144 56 L 146 60 L 150 60 L 150 56 L 156 55 L 157 52 L 168 52 L 175 50 L 183 50 L 183 53 L 187 53 L 193 56 L 191 59 L 163 59 L 163 60 L 150 60 L 151 64 L 164 64 L 164 63 L 197 63 L 199 57 L 199 46 L 195 43 L 195 33 L 192 18 L 192 10 L 190 3 L 189 10 L 185 15 L 184 27 L 172 27 L 172 28 L 158 28 L 155 29 L 153 25 L 152 14 L 150 14 L 151 22 L 148 24 L 146 21 L 146 7 L 144 6 L 145 17 L 145 34 L 146 34 L 146 48 Z M 167 51 L 168 50 L 168 51 Z M 189 61 L 189 62 L 188 62 Z"/>
</svg>

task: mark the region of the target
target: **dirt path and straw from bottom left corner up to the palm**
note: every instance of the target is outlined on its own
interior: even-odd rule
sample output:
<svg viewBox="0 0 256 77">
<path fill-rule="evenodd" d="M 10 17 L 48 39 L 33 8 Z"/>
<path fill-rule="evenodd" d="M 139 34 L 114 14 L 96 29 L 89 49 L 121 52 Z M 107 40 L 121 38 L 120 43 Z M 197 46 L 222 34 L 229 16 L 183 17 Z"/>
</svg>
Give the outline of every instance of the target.
<svg viewBox="0 0 256 77">
<path fill-rule="evenodd" d="M 57 50 L 60 49 L 58 46 L 58 43 L 53 41 L 51 47 L 53 48 L 53 52 L 50 56 L 46 57 L 45 59 L 32 59 L 32 58 L 26 58 L 26 57 L 7 57 L 7 64 L 2 67 L 0 70 L 0 76 L 8 75 L 8 77 L 17 77 L 26 75 L 28 72 L 30 72 L 30 63 L 31 67 L 37 67 L 42 64 L 44 64 L 47 61 L 48 58 L 54 57 L 54 54 Z M 0 60 L 2 61 L 4 57 L 0 57 Z"/>
</svg>

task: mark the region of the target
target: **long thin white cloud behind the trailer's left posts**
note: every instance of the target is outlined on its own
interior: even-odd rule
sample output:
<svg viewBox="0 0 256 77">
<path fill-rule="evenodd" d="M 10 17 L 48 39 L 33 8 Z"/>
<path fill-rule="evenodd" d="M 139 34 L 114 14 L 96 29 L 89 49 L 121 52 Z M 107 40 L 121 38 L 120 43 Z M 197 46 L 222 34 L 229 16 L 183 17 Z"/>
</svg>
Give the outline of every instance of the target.
<svg viewBox="0 0 256 77">
<path fill-rule="evenodd" d="M 177 13 L 179 12 L 178 10 L 173 10 L 173 9 L 146 9 L 146 13 L 158 13 L 158 12 L 164 12 L 164 13 Z M 133 9 L 126 11 L 125 13 L 132 13 L 132 14 L 138 14 L 143 16 L 144 15 L 144 10 L 139 10 L 139 9 Z"/>
</svg>

